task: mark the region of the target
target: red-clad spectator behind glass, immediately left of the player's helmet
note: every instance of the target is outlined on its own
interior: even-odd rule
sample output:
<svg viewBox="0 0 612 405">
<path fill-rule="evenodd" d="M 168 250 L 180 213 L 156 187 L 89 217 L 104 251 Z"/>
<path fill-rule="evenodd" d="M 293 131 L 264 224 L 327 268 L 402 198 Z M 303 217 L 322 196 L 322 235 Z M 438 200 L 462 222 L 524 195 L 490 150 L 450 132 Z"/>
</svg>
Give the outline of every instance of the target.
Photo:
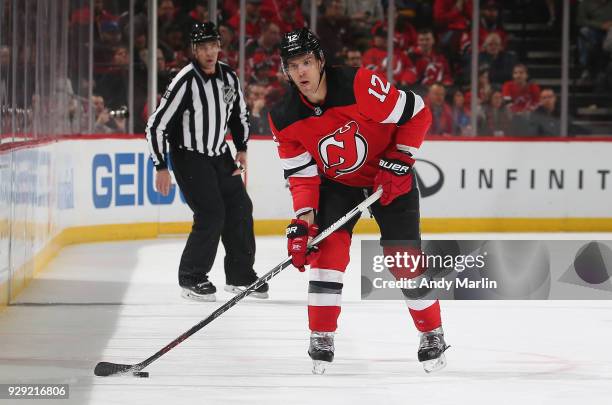
<svg viewBox="0 0 612 405">
<path fill-rule="evenodd" d="M 266 22 L 256 40 L 250 40 L 245 49 L 247 81 L 278 87 L 280 75 L 280 29 L 273 22 Z"/>
</svg>

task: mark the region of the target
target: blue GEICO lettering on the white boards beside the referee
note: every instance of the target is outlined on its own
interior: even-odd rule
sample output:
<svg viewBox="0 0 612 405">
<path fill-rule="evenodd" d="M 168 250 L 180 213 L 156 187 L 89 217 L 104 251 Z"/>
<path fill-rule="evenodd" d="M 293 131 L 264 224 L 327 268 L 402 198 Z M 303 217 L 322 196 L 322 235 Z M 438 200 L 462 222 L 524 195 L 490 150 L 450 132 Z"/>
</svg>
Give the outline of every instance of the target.
<svg viewBox="0 0 612 405">
<path fill-rule="evenodd" d="M 91 165 L 94 207 L 185 203 L 175 185 L 167 196 L 155 190 L 155 167 L 144 153 L 97 154 Z"/>
</svg>

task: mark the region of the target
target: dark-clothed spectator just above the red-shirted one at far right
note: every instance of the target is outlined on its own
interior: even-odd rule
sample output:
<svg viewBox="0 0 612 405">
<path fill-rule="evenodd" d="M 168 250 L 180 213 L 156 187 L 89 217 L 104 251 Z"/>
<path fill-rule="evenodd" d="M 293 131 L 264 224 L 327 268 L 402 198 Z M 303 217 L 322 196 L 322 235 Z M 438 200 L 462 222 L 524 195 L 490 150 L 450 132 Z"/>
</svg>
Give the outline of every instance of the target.
<svg viewBox="0 0 612 405">
<path fill-rule="evenodd" d="M 512 52 L 504 50 L 501 37 L 495 32 L 489 34 L 485 38 L 483 48 L 484 50 L 478 54 L 478 64 L 488 66 L 491 83 L 501 86 L 504 82 L 512 79 L 516 56 Z M 471 63 L 466 63 L 465 71 L 469 78 Z"/>
</svg>

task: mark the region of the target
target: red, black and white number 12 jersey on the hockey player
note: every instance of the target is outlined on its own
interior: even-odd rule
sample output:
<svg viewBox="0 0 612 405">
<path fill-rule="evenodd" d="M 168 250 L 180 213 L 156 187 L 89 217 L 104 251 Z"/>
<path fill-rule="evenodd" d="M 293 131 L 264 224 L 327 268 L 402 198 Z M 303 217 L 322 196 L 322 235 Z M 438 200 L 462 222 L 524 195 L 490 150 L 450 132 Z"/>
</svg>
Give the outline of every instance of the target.
<svg viewBox="0 0 612 405">
<path fill-rule="evenodd" d="M 388 149 L 412 154 L 431 124 L 423 99 L 365 68 L 326 68 L 327 96 L 310 103 L 292 89 L 270 112 L 296 214 L 318 209 L 319 175 L 371 187 Z"/>
</svg>

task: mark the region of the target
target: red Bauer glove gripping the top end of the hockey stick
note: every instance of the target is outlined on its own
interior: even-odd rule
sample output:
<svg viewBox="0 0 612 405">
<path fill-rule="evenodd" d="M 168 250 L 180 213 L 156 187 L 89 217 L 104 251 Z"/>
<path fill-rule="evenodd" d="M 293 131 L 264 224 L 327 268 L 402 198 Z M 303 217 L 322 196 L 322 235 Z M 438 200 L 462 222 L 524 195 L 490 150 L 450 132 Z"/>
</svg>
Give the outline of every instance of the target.
<svg viewBox="0 0 612 405">
<path fill-rule="evenodd" d="M 382 187 L 382 205 L 389 205 L 402 194 L 412 190 L 412 166 L 414 159 L 399 151 L 388 152 L 380 158 L 379 169 L 374 178 L 374 190 Z"/>
</svg>

